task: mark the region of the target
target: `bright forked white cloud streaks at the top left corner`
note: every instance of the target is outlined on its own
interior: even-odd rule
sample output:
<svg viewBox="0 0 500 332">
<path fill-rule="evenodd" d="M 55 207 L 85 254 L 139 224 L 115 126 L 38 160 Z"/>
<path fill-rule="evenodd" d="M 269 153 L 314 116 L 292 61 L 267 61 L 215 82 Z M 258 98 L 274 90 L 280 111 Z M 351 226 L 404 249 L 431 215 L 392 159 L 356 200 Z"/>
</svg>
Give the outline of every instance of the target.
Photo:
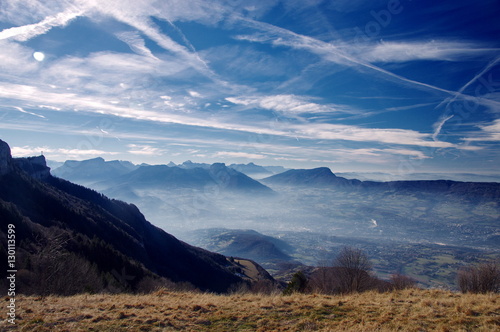
<svg viewBox="0 0 500 332">
<path fill-rule="evenodd" d="M 12 3 L 8 5 L 9 9 L 14 12 L 22 12 L 21 3 Z M 50 6 L 49 6 L 50 7 Z M 163 49 L 172 52 L 187 66 L 197 70 L 202 75 L 209 77 L 215 81 L 218 80 L 205 63 L 205 61 L 193 51 L 192 47 L 183 46 L 175 42 L 168 35 L 151 21 L 150 17 L 154 16 L 159 19 L 164 19 L 172 22 L 175 19 L 203 19 L 209 18 L 209 21 L 214 22 L 221 18 L 221 14 L 217 14 L 216 4 L 207 3 L 206 1 L 97 1 L 97 0 L 80 0 L 73 3 L 67 2 L 64 5 L 58 3 L 52 6 L 53 8 L 43 11 L 51 12 L 51 15 L 46 16 L 42 21 L 33 24 L 26 24 L 19 27 L 5 29 L 0 32 L 1 39 L 14 39 L 18 41 L 26 41 L 40 34 L 45 34 L 51 28 L 64 26 L 78 16 L 88 16 L 90 18 L 99 16 L 111 16 L 114 19 L 136 28 L 139 32 L 156 42 Z M 36 10 L 42 12 L 39 6 L 32 6 Z M 64 8 L 64 9 L 63 9 Z M 54 10 L 60 12 L 53 13 Z M 217 18 L 218 17 L 218 18 Z M 132 33 L 118 35 L 123 41 L 135 52 L 153 57 L 150 50 L 145 47 L 141 38 Z M 187 41 L 187 40 L 186 40 Z"/>
</svg>

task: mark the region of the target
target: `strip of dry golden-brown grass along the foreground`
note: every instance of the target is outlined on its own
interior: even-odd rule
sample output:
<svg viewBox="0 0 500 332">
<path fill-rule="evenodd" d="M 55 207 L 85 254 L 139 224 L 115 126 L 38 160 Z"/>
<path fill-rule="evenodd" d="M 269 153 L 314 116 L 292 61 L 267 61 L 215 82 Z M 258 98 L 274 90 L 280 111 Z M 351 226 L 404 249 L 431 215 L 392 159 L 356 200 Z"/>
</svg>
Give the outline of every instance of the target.
<svg viewBox="0 0 500 332">
<path fill-rule="evenodd" d="M 345 296 L 159 291 L 19 296 L 16 303 L 18 331 L 500 331 L 498 295 L 437 290 Z"/>
</svg>

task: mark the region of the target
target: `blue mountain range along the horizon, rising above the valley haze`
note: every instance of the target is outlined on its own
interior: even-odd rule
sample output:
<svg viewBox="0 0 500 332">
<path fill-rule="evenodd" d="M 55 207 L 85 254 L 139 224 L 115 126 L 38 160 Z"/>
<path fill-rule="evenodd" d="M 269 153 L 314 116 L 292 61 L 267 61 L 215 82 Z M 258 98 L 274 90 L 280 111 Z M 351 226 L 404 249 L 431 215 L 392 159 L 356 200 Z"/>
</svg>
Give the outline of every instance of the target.
<svg viewBox="0 0 500 332">
<path fill-rule="evenodd" d="M 254 163 L 206 164 L 186 161 L 176 165 L 134 165 L 128 161 L 104 161 L 94 158 L 83 161 L 68 160 L 52 172 L 55 176 L 89 185 L 99 190 L 125 188 L 190 188 L 217 186 L 230 192 L 270 194 L 266 185 L 328 187 L 334 189 L 380 191 L 426 191 L 500 197 L 497 182 L 463 182 L 452 180 L 361 181 L 335 175 L 327 167 L 290 169 L 279 166 L 260 166 Z M 349 174 L 349 173 L 347 173 Z M 258 175 L 259 180 L 252 177 Z M 267 176 L 265 176 L 267 175 Z M 251 177 L 252 176 L 252 177 Z"/>
</svg>

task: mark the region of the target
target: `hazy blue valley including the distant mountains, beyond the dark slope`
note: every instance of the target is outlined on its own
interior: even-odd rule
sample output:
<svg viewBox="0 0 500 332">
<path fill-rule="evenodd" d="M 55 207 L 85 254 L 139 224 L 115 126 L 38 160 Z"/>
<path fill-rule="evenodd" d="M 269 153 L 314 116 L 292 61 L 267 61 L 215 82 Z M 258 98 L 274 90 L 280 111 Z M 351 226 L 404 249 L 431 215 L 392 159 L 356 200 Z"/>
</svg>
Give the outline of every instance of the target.
<svg viewBox="0 0 500 332">
<path fill-rule="evenodd" d="M 261 167 L 250 166 L 249 175 Z M 328 168 L 274 168 L 280 172 L 256 180 L 238 168 L 245 170 L 93 159 L 52 173 L 136 204 L 188 243 L 254 259 L 274 273 L 321 264 L 350 245 L 364 248 L 381 276 L 407 273 L 425 286 L 455 287 L 461 265 L 500 250 L 498 183 L 360 181 Z"/>
</svg>

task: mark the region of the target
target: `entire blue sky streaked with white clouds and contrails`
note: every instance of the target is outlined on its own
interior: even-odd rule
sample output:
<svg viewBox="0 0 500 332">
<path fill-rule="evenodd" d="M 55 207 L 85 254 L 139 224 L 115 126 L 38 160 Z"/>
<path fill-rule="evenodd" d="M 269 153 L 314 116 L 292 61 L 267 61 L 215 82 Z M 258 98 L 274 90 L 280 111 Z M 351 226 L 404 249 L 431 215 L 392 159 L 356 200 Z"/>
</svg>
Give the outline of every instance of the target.
<svg viewBox="0 0 500 332">
<path fill-rule="evenodd" d="M 15 156 L 499 173 L 500 2 L 0 3 Z"/>
</svg>

